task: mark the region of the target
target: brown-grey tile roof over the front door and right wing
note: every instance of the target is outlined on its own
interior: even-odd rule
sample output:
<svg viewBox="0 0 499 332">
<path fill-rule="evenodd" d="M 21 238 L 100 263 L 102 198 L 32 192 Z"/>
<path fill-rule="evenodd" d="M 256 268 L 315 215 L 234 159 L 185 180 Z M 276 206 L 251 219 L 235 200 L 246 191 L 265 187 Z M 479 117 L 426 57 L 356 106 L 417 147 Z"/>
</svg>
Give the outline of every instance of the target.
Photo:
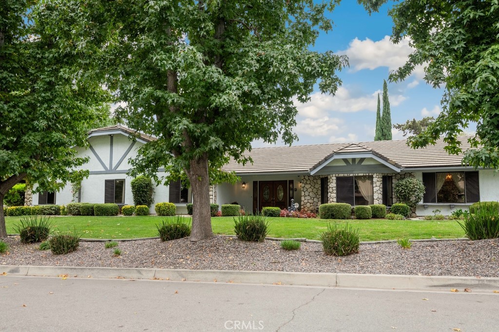
<svg viewBox="0 0 499 332">
<path fill-rule="evenodd" d="M 461 148 L 466 151 L 470 148 L 470 137 L 460 137 Z M 464 154 L 449 155 L 444 147 L 447 144 L 438 140 L 435 145 L 421 149 L 412 149 L 407 146 L 406 140 L 375 141 L 342 144 L 316 144 L 296 146 L 276 146 L 253 148 L 245 155 L 253 159 L 243 166 L 231 159 L 223 167 L 226 171 L 235 171 L 238 174 L 264 173 L 309 173 L 321 162 L 329 159 L 333 154 L 372 152 L 388 162 L 399 165 L 403 169 L 462 167 L 461 160 Z"/>
</svg>

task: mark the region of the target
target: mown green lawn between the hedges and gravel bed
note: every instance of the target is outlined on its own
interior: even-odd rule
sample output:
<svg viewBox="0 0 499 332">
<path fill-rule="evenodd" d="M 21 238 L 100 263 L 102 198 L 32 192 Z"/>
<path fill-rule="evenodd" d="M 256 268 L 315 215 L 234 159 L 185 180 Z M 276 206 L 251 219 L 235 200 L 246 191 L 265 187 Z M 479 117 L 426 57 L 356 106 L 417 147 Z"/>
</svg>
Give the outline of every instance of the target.
<svg viewBox="0 0 499 332">
<path fill-rule="evenodd" d="M 137 238 L 157 236 L 156 224 L 169 217 L 51 217 L 53 229 L 76 229 L 85 238 Z M 172 218 L 172 217 L 170 217 Z M 6 217 L 7 233 L 14 233 L 13 225 L 20 217 Z M 267 218 L 268 236 L 306 237 L 318 239 L 329 222 L 340 220 Z M 392 240 L 404 236 L 411 239 L 464 237 L 465 232 L 457 221 L 399 221 L 399 220 L 349 220 L 359 229 L 361 241 Z M 232 217 L 212 218 L 213 231 L 217 234 L 234 234 Z"/>
</svg>

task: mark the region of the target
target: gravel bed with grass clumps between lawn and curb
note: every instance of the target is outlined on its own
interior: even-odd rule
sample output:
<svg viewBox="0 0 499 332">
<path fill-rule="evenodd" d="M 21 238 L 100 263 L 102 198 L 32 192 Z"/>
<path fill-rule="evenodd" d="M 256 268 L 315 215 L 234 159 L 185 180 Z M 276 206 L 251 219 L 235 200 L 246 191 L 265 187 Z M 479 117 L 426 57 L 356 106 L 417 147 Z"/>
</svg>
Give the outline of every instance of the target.
<svg viewBox="0 0 499 332">
<path fill-rule="evenodd" d="M 103 242 L 80 242 L 77 251 L 66 255 L 40 251 L 38 244 L 22 244 L 13 237 L 6 242 L 10 249 L 0 255 L 1 265 L 499 277 L 499 239 L 414 242 L 409 250 L 397 243 L 361 244 L 359 253 L 343 257 L 325 255 L 321 243 L 303 242 L 299 250 L 286 251 L 279 241 L 223 236 L 199 242 L 119 241 L 120 256 L 113 256 Z"/>
</svg>

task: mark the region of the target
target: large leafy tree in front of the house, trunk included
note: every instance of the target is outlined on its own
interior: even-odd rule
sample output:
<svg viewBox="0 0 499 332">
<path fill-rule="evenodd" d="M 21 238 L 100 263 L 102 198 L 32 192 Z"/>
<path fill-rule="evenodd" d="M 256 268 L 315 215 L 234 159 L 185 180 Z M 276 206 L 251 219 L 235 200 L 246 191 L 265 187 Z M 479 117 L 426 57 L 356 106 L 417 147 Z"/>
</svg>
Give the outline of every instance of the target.
<svg viewBox="0 0 499 332">
<path fill-rule="evenodd" d="M 209 168 L 229 156 L 250 161 L 254 139 L 290 144 L 293 100 L 309 100 L 318 80 L 321 92 L 334 94 L 347 65 L 345 56 L 308 49 L 319 30 L 331 30 L 324 13 L 334 0 L 48 2 L 78 16 L 70 39 L 86 38 L 87 48 L 93 40 L 82 27 L 109 32 L 99 62 L 125 103 L 117 114 L 158 137 L 140 148 L 133 173 L 185 172 L 196 206 L 191 240 L 212 234 Z"/>
</svg>

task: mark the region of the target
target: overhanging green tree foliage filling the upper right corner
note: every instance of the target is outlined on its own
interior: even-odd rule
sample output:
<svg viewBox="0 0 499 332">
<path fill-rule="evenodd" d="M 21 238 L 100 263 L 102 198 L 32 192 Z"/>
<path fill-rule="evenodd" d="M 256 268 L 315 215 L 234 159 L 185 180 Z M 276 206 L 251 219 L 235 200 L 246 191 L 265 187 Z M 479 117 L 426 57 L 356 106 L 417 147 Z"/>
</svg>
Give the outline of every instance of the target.
<svg viewBox="0 0 499 332">
<path fill-rule="evenodd" d="M 387 0 L 358 0 L 369 11 Z M 417 148 L 444 136 L 451 154 L 461 153 L 457 139 L 470 122 L 477 122 L 472 149 L 463 162 L 499 168 L 499 3 L 497 0 L 404 0 L 389 11 L 392 40 L 408 37 L 415 51 L 390 75 L 403 80 L 415 66 L 425 66 L 425 80 L 444 87 L 443 111 L 424 132 L 411 137 Z"/>
</svg>

